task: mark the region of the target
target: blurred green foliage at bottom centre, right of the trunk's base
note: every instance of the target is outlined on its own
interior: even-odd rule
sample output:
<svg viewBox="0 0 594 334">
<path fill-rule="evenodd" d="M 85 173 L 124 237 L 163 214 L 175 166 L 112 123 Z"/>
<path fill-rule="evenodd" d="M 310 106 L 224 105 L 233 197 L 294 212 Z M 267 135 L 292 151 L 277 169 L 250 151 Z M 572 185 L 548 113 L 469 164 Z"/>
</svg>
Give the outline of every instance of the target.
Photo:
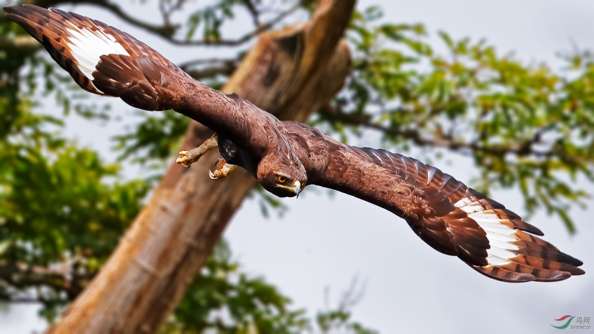
<svg viewBox="0 0 594 334">
<path fill-rule="evenodd" d="M 188 286 L 162 333 L 301 333 L 308 321 L 303 311 L 287 310 L 289 302 L 263 279 L 240 272 L 223 241 Z"/>
</svg>

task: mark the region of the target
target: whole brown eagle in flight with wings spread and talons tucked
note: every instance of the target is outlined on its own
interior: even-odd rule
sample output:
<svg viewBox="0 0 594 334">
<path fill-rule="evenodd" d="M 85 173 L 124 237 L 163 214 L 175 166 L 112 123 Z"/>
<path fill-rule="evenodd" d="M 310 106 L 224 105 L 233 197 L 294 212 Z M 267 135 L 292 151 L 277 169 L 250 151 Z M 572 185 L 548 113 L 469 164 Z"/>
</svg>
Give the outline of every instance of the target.
<svg viewBox="0 0 594 334">
<path fill-rule="evenodd" d="M 158 52 L 99 21 L 55 8 L 6 7 L 7 17 L 45 46 L 88 92 L 147 111 L 173 109 L 216 135 L 180 152 L 189 166 L 219 147 L 211 178 L 235 166 L 280 197 L 305 185 L 331 188 L 393 212 L 435 250 L 506 282 L 560 281 L 583 263 L 534 235 L 535 226 L 439 169 L 386 150 L 347 146 L 320 130 L 279 121 L 236 94 L 211 89 Z"/>
</svg>

